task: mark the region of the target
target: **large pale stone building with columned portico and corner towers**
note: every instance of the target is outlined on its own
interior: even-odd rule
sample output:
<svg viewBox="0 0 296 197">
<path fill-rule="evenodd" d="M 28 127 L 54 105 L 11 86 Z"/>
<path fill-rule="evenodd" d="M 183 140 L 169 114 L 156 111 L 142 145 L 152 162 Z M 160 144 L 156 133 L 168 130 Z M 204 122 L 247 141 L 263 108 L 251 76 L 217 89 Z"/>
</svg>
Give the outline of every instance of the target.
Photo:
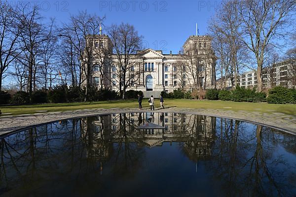
<svg viewBox="0 0 296 197">
<path fill-rule="evenodd" d="M 179 54 L 172 54 L 172 52 L 164 54 L 161 50 L 153 49 L 133 54 L 131 66 L 125 77 L 126 81 L 129 81 L 126 91 L 160 93 L 161 91 L 172 92 L 178 88 L 185 90 L 214 88 L 215 55 L 211 50 L 211 40 L 210 36 L 190 36 L 183 45 L 184 53 Z M 101 50 L 110 52 L 110 55 L 108 60 L 104 60 L 104 66 L 101 66 L 100 55 L 94 59 L 92 83 L 98 87 L 119 91 L 122 76 L 118 75 L 118 69 L 120 69 L 118 55 L 112 53 L 111 39 L 107 35 L 98 35 L 94 44 L 98 54 Z M 104 71 L 102 72 L 101 69 Z M 148 95 L 150 93 L 148 92 Z"/>
</svg>

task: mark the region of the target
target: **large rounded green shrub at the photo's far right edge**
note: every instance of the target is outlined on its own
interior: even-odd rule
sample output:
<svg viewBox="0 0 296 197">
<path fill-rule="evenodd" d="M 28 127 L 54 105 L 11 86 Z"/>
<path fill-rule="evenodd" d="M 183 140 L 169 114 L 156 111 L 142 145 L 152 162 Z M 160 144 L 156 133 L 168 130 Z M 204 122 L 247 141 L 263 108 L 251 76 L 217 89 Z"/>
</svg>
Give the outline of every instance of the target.
<svg viewBox="0 0 296 197">
<path fill-rule="evenodd" d="M 268 103 L 296 103 L 296 93 L 293 89 L 288 89 L 282 86 L 276 86 L 269 90 L 267 102 Z"/>
</svg>

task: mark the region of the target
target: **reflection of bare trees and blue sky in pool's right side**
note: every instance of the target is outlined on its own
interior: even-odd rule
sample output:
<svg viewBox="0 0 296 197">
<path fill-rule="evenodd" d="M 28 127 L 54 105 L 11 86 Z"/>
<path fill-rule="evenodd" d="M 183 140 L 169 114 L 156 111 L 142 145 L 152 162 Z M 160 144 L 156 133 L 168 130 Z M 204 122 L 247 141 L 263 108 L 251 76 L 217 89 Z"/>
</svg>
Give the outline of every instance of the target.
<svg viewBox="0 0 296 197">
<path fill-rule="evenodd" d="M 259 125 L 248 132 L 250 128 L 240 121 L 217 121 L 213 155 L 205 165 L 220 180 L 222 196 L 289 196 L 295 187 L 287 181 L 291 166 L 274 154 L 273 144 L 287 135 Z"/>
</svg>

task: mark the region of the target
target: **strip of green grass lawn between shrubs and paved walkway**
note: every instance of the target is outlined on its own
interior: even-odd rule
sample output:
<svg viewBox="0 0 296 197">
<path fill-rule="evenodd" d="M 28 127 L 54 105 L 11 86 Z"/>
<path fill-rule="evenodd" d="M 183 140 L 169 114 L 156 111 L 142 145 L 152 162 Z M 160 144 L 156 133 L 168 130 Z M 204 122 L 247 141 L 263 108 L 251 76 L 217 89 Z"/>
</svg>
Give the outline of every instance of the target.
<svg viewBox="0 0 296 197">
<path fill-rule="evenodd" d="M 147 99 L 148 100 L 148 99 Z M 149 107 L 148 101 L 143 100 L 143 107 Z M 252 102 L 233 102 L 222 100 L 187 100 L 187 99 L 165 99 L 164 105 L 167 107 L 177 106 L 186 108 L 204 108 L 204 109 L 223 109 L 223 110 L 245 110 L 259 111 L 264 113 L 280 112 L 289 115 L 296 115 L 296 104 L 268 104 L 268 103 L 252 103 Z M 68 111 L 76 109 L 91 108 L 132 108 L 138 107 L 136 99 L 131 100 L 114 100 L 114 101 L 98 101 L 98 102 L 74 102 L 74 103 L 45 103 L 33 105 L 18 106 L 0 106 L 2 113 L 18 114 L 34 114 L 37 111 L 46 110 Z M 160 107 L 159 100 L 155 99 L 155 107 Z M 231 108 L 230 108 L 231 107 Z"/>
</svg>

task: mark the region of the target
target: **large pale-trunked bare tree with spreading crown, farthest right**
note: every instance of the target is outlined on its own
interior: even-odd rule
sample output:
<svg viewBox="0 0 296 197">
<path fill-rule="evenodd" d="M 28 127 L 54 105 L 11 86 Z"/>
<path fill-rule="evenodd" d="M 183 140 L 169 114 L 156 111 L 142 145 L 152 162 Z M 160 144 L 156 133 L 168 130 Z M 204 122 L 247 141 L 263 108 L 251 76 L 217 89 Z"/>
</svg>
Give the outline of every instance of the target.
<svg viewBox="0 0 296 197">
<path fill-rule="evenodd" d="M 242 41 L 257 61 L 258 91 L 262 90 L 261 71 L 266 48 L 273 38 L 287 35 L 285 27 L 295 9 L 295 0 L 238 1 L 242 20 Z"/>
</svg>

